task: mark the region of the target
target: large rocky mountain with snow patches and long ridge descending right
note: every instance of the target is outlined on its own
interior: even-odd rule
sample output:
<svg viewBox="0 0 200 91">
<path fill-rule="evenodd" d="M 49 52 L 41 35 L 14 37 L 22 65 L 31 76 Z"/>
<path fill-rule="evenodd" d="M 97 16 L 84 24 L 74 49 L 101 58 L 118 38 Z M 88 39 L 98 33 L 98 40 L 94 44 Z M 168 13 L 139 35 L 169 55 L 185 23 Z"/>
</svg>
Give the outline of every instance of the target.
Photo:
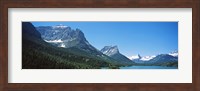
<svg viewBox="0 0 200 91">
<path fill-rule="evenodd" d="M 126 62 L 119 62 L 93 47 L 85 38 L 80 29 L 71 29 L 69 26 L 39 26 L 36 30 L 41 33 L 42 39 L 56 47 L 65 48 L 67 51 L 103 60 L 113 65 L 129 65 Z"/>
</svg>

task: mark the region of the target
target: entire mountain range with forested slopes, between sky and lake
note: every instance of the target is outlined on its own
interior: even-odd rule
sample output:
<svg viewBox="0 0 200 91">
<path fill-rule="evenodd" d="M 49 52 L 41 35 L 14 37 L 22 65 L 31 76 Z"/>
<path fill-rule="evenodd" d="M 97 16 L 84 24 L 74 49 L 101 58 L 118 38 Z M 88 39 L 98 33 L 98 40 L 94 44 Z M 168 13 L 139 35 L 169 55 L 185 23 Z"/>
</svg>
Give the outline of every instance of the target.
<svg viewBox="0 0 200 91">
<path fill-rule="evenodd" d="M 176 52 L 138 55 L 130 60 L 117 46 L 96 49 L 80 29 L 65 25 L 34 27 L 30 22 L 22 22 L 22 54 L 23 69 L 115 69 L 131 65 L 177 66 L 178 62 Z"/>
</svg>

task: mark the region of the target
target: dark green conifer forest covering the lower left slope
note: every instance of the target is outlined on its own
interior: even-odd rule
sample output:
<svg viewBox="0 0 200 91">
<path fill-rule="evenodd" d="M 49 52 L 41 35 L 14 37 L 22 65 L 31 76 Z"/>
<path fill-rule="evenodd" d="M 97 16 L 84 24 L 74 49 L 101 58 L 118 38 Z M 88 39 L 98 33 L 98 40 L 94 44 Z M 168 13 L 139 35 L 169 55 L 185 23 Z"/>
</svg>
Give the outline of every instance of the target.
<svg viewBox="0 0 200 91">
<path fill-rule="evenodd" d="M 98 69 L 112 65 L 87 56 L 75 55 L 34 37 L 23 38 L 22 42 L 23 69 Z"/>
</svg>

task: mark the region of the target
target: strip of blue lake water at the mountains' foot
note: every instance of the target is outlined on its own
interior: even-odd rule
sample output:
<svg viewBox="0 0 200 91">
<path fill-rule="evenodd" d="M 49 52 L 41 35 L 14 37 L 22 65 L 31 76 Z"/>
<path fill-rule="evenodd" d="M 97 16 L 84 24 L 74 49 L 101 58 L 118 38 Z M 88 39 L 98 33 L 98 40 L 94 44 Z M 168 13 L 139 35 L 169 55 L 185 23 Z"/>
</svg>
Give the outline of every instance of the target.
<svg viewBox="0 0 200 91">
<path fill-rule="evenodd" d="M 165 67 L 165 66 L 127 66 L 127 67 L 120 67 L 120 69 L 178 69 L 178 67 Z"/>
</svg>

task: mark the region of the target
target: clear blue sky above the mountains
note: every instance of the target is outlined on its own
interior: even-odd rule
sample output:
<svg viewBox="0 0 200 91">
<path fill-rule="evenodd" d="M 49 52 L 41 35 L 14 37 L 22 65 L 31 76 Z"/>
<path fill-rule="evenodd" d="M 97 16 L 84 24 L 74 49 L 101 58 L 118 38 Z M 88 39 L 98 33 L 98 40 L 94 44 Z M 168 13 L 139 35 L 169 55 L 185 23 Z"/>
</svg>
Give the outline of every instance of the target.
<svg viewBox="0 0 200 91">
<path fill-rule="evenodd" d="M 178 22 L 32 22 L 34 26 L 63 24 L 80 29 L 97 49 L 117 45 L 125 56 L 157 55 L 178 50 Z"/>
</svg>

